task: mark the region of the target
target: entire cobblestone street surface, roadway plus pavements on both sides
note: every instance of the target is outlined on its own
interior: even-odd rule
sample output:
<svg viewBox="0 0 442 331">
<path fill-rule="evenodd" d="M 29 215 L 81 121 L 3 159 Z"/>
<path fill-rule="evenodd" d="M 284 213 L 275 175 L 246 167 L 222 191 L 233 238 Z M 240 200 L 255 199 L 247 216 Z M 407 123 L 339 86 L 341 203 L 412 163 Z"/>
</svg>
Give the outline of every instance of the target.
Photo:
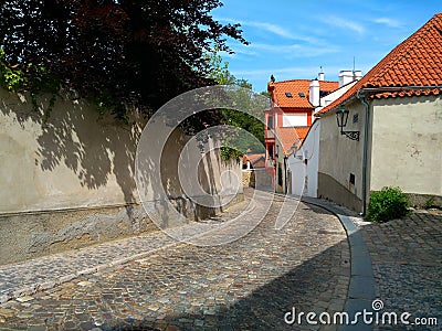
<svg viewBox="0 0 442 331">
<path fill-rule="evenodd" d="M 240 215 L 252 192 L 246 195 L 217 222 Z M 271 194 L 260 193 L 248 214 L 265 215 L 263 221 L 231 244 L 197 247 L 157 232 L 2 266 L 0 330 L 336 330 L 305 320 L 288 325 L 284 314 L 293 307 L 297 312 L 345 311 L 350 275 L 357 270 L 343 224 L 325 209 L 299 203 L 277 231 L 284 197 L 275 196 L 269 212 L 266 199 Z M 297 201 L 287 202 L 296 209 Z M 315 203 L 333 210 L 328 202 Z M 417 211 L 386 224 L 346 213 L 367 246 L 382 311 L 410 312 L 411 323 L 436 318 L 439 324 L 441 212 Z"/>
</svg>

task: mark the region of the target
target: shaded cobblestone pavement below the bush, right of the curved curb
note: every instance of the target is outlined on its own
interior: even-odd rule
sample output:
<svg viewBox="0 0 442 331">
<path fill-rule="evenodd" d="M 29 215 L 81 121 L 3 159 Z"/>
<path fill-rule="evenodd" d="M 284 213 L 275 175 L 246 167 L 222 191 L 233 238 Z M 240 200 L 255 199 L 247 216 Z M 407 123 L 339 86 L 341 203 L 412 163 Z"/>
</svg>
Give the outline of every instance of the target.
<svg viewBox="0 0 442 331">
<path fill-rule="evenodd" d="M 418 211 L 402 220 L 360 228 L 383 311 L 407 311 L 411 322 L 414 318 L 435 317 L 438 327 L 408 329 L 442 330 L 442 213 Z"/>
</svg>

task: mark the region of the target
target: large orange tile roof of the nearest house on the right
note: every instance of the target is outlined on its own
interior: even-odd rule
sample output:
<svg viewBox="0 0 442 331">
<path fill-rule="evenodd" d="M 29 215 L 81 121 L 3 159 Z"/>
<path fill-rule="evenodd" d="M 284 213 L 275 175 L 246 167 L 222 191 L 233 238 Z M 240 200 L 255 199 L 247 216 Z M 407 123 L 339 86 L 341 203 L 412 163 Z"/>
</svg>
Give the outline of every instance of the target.
<svg viewBox="0 0 442 331">
<path fill-rule="evenodd" d="M 372 97 L 389 98 L 412 95 L 438 95 L 442 88 L 407 89 L 408 86 L 442 85 L 442 13 L 435 14 L 421 29 L 396 46 L 358 83 L 319 114 L 328 113 L 361 88 L 386 88 Z"/>
</svg>

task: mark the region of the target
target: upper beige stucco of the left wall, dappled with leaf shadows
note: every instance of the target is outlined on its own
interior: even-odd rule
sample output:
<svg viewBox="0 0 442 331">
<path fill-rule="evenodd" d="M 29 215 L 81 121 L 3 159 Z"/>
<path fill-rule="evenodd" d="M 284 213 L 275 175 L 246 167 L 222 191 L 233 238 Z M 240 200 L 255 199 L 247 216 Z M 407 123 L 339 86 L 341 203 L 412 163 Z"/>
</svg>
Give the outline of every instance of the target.
<svg viewBox="0 0 442 331">
<path fill-rule="evenodd" d="M 57 99 L 43 122 L 29 96 L 22 103 L 0 89 L 0 214 L 139 202 L 135 156 L 145 124 L 141 116 L 127 125 L 110 115 L 98 120 L 94 106 L 69 98 Z M 187 141 L 180 132 L 169 139 L 161 154 L 161 178 L 146 169 L 152 192 L 162 184 L 169 196 L 183 196 L 177 162 Z M 197 185 L 221 192 L 224 170 L 241 179 L 241 166 L 224 164 L 213 150 L 198 164 L 199 183 L 187 185 L 186 193 L 198 194 Z"/>
</svg>

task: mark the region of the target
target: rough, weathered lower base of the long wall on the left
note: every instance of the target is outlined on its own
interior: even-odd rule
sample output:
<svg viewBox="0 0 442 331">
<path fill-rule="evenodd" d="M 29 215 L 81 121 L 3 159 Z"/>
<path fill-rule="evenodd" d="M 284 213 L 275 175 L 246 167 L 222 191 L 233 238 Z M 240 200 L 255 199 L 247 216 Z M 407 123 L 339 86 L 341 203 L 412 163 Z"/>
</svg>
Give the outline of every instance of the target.
<svg viewBox="0 0 442 331">
<path fill-rule="evenodd" d="M 141 205 L 0 216 L 0 265 L 157 231 Z"/>
</svg>

